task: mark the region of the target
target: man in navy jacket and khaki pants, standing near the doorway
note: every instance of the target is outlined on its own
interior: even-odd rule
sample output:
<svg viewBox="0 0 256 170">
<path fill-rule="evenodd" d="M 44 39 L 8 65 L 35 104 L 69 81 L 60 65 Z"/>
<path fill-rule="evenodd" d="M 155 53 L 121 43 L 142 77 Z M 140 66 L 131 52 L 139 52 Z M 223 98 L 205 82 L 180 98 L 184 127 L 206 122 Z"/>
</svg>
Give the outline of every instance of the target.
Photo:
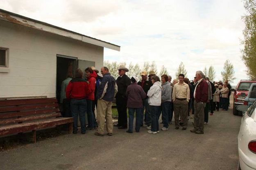
<svg viewBox="0 0 256 170">
<path fill-rule="evenodd" d="M 117 93 L 117 85 L 115 78 L 111 76 L 107 67 L 102 67 L 100 72 L 103 77 L 97 93 L 98 131 L 95 132 L 95 135 L 104 136 L 104 124 L 106 119 L 106 130 L 108 131 L 108 135 L 112 136 L 112 102 Z"/>
</svg>

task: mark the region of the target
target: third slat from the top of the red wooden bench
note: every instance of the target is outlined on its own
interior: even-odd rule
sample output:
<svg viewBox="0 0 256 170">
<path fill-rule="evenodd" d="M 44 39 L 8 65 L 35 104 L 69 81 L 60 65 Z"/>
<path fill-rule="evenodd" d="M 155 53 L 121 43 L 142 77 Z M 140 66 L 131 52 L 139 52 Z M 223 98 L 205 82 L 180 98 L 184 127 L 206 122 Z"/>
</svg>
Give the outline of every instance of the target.
<svg viewBox="0 0 256 170">
<path fill-rule="evenodd" d="M 0 113 L 0 119 L 11 118 L 11 117 L 18 117 L 18 116 L 28 116 L 34 114 L 45 114 L 45 113 L 52 113 L 52 112 L 59 112 L 59 108 L 46 108 L 43 110 L 31 110 L 31 111 L 22 111 L 22 112 L 7 112 L 7 113 Z"/>
</svg>

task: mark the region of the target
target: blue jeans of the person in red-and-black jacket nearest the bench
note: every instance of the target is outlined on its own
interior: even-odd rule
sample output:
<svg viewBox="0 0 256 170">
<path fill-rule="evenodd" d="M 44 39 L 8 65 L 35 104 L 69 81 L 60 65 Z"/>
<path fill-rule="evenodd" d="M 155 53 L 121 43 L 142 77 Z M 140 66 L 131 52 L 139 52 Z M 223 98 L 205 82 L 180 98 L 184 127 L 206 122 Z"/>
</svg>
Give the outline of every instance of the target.
<svg viewBox="0 0 256 170">
<path fill-rule="evenodd" d="M 79 114 L 81 132 L 85 132 L 86 99 L 71 98 L 70 109 L 74 118 L 73 131 L 77 131 L 77 117 Z"/>
</svg>

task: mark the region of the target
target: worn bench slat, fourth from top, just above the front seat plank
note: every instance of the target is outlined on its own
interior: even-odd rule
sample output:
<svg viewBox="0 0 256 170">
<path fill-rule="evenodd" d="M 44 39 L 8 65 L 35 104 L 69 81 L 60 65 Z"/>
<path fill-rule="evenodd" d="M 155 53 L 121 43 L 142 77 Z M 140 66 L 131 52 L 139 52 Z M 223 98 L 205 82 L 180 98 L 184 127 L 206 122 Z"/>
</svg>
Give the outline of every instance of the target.
<svg viewBox="0 0 256 170">
<path fill-rule="evenodd" d="M 25 121 L 32 121 L 32 120 L 38 120 L 38 119 L 46 119 L 51 117 L 58 117 L 61 116 L 60 113 L 50 113 L 50 114 L 39 114 L 39 115 L 32 115 L 32 116 L 26 116 L 26 117 L 20 117 L 16 119 L 2 119 L 0 120 L 0 125 L 10 124 L 10 123 L 19 123 L 19 122 L 25 122 Z"/>
</svg>

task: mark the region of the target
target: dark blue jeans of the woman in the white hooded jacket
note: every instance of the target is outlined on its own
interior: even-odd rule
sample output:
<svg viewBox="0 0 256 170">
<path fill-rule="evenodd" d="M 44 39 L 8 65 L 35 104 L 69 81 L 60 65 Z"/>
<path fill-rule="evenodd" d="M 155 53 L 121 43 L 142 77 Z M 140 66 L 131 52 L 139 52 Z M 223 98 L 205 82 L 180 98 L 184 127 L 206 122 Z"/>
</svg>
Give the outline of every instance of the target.
<svg viewBox="0 0 256 170">
<path fill-rule="evenodd" d="M 150 105 L 150 114 L 151 114 L 151 131 L 159 131 L 159 116 L 160 116 L 160 106 Z"/>
</svg>

